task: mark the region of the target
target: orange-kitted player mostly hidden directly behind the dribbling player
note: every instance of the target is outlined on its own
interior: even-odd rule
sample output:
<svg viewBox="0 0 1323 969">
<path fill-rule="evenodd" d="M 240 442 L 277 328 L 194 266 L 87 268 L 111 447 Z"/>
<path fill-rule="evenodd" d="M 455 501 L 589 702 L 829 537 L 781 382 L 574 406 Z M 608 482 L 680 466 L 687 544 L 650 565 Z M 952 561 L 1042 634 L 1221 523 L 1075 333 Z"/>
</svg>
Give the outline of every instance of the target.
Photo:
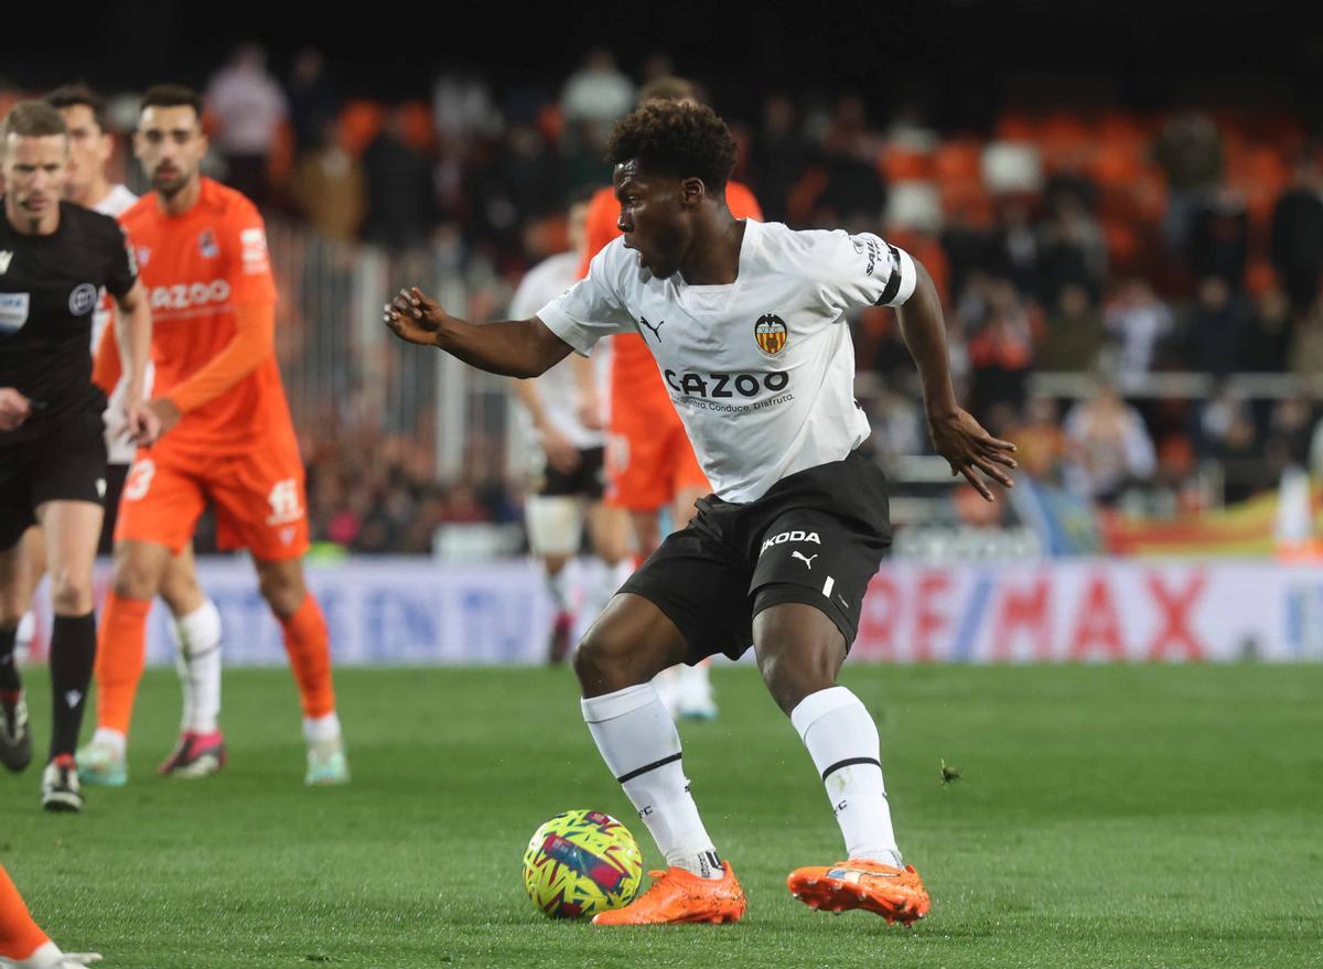
<svg viewBox="0 0 1323 969">
<path fill-rule="evenodd" d="M 639 91 L 639 103 L 677 101 L 701 103 L 701 91 L 692 81 L 659 77 Z M 736 218 L 762 220 L 762 208 L 746 185 L 726 183 L 726 205 Z M 620 234 L 620 203 L 607 187 L 593 196 L 587 214 L 587 246 L 578 278 L 587 275 L 589 262 Z M 532 307 L 536 310 L 538 307 Z M 516 314 L 517 315 L 517 314 Z M 532 311 L 527 315 L 532 315 Z M 644 323 L 643 335 L 611 338 L 611 412 L 606 447 L 609 504 L 624 508 L 634 523 L 640 561 L 662 544 L 662 515 L 669 512 L 671 530 L 679 531 L 693 518 L 693 503 L 712 491 L 693 457 L 656 361 L 648 352 L 648 332 L 665 339 L 664 320 Z M 672 716 L 712 720 L 717 704 L 708 675 L 710 661 L 676 666 L 658 675 L 656 687 Z"/>
</svg>

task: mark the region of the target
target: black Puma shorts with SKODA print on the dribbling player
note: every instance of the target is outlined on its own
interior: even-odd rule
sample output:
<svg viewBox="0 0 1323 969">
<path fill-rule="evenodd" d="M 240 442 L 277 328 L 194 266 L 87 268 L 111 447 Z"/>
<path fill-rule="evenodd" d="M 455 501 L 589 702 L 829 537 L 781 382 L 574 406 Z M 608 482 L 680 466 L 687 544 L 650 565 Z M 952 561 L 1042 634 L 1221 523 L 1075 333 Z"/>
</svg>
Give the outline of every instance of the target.
<svg viewBox="0 0 1323 969">
<path fill-rule="evenodd" d="M 856 450 L 782 478 L 755 502 L 708 495 L 697 507 L 620 588 L 679 627 L 687 662 L 738 658 L 753 645 L 753 617 L 786 602 L 823 612 L 849 647 L 892 543 L 886 478 L 872 459 Z"/>
</svg>

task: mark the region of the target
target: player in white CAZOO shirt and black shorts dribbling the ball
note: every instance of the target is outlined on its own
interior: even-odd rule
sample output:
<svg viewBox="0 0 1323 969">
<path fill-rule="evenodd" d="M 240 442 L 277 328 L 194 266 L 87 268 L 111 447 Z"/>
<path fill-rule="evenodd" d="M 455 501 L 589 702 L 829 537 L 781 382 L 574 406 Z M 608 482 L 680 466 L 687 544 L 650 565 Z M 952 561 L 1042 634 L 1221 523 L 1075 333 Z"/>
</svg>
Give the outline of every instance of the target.
<svg viewBox="0 0 1323 969">
<path fill-rule="evenodd" d="M 624 584 L 579 643 L 582 711 L 611 773 L 669 866 L 599 925 L 734 921 L 744 891 L 721 862 L 684 776 L 680 737 L 651 679 L 753 643 L 773 699 L 823 777 L 847 860 L 799 868 L 815 908 L 912 923 L 930 907 L 904 864 L 877 728 L 836 675 L 890 540 L 885 482 L 859 447 L 852 307 L 896 306 L 923 384 L 937 451 L 992 499 L 1013 445 L 955 402 L 942 310 L 927 271 L 868 233 L 737 220 L 722 188 L 736 146 L 710 109 L 644 105 L 611 132 L 624 237 L 587 278 L 524 320 L 472 326 L 413 289 L 388 304 L 401 339 L 483 369 L 541 373 L 572 349 L 647 320 L 648 347 L 714 494 Z"/>
</svg>

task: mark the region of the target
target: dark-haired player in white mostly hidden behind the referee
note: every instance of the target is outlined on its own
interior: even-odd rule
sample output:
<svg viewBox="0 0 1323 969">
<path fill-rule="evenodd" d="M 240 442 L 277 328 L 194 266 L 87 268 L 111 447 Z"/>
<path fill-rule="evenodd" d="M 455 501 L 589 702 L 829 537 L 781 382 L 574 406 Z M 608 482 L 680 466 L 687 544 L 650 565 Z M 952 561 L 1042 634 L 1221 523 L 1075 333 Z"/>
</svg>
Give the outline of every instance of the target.
<svg viewBox="0 0 1323 969">
<path fill-rule="evenodd" d="M 114 139 L 106 131 L 105 101 L 86 85 L 65 85 L 57 87 L 45 98 L 56 107 L 69 127 L 69 180 L 65 183 L 65 197 L 83 208 L 103 216 L 118 218 L 138 196 L 122 184 L 112 184 L 106 177 L 106 165 L 115 151 Z M 102 339 L 108 342 L 102 359 L 114 357 L 118 368 L 119 356 L 114 353 L 114 330 L 107 324 L 112 316 L 111 300 L 105 293 L 97 303 L 93 318 L 90 351 Z M 103 368 L 105 369 L 105 368 Z M 124 428 L 124 401 L 128 393 L 128 376 L 120 375 L 106 381 L 106 375 L 93 372 L 93 380 L 110 397 L 106 408 L 106 514 L 101 530 L 102 555 L 111 552 L 115 533 L 115 518 L 119 510 L 119 495 L 124 487 L 128 465 L 136 450 L 128 439 Z M 147 364 L 143 380 L 143 394 L 152 391 L 153 369 Z M 40 526 L 24 535 L 22 555 L 30 569 L 33 588 L 46 571 L 45 544 Z M 161 598 L 169 606 L 173 622 L 171 631 L 177 647 L 180 680 L 184 688 L 183 737 L 173 753 L 160 765 L 160 772 L 177 777 L 200 777 L 214 773 L 225 764 L 225 745 L 198 744 L 196 737 L 216 732 L 216 719 L 221 708 L 221 614 L 197 582 L 197 569 L 193 563 L 193 547 L 185 545 L 180 555 L 171 559 L 161 580 Z M 29 612 L 19 623 L 16 653 L 26 654 L 36 622 Z"/>
</svg>

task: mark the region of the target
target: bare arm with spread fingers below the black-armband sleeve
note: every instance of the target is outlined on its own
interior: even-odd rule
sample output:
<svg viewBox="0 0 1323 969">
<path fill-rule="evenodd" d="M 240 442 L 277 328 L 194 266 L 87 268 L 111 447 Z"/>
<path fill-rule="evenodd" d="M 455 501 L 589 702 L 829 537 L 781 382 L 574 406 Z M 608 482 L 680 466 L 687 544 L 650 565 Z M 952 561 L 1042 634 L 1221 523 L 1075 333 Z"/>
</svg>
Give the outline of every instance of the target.
<svg viewBox="0 0 1323 969">
<path fill-rule="evenodd" d="M 914 294 L 897 307 L 901 334 L 910 356 L 918 364 L 923 381 L 923 409 L 927 412 L 927 433 L 937 453 L 951 465 L 951 474 L 963 474 L 983 498 L 994 500 L 992 490 L 978 471 L 1011 487 L 1011 475 L 1003 467 L 1015 467 L 1015 445 L 988 434 L 972 416 L 955 402 L 951 387 L 951 361 L 946 352 L 946 323 L 942 320 L 942 302 L 933 278 L 918 259 L 914 259 L 918 283 Z"/>
</svg>

